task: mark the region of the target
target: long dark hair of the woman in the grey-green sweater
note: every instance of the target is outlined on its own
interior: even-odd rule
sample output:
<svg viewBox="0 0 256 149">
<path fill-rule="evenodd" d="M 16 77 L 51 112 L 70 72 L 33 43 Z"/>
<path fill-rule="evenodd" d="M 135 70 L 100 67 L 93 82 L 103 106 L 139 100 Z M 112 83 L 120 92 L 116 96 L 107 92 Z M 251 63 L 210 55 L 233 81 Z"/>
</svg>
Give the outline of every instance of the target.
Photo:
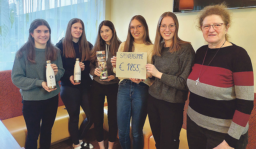
<svg viewBox="0 0 256 149">
<path fill-rule="evenodd" d="M 49 40 L 46 44 L 46 51 L 45 51 L 45 59 L 54 61 L 57 59 L 57 52 L 59 51 L 58 48 L 56 48 L 52 42 L 51 42 L 51 28 L 48 22 L 44 19 L 35 19 L 31 22 L 29 27 L 29 38 L 28 41 L 20 47 L 20 50 L 17 51 L 17 56 L 20 58 L 23 56 L 22 52 L 27 52 L 27 59 L 29 62 L 35 64 L 35 39 L 32 37 L 32 33 L 34 33 L 34 30 L 38 28 L 38 26 L 45 25 L 49 29 Z"/>
</svg>

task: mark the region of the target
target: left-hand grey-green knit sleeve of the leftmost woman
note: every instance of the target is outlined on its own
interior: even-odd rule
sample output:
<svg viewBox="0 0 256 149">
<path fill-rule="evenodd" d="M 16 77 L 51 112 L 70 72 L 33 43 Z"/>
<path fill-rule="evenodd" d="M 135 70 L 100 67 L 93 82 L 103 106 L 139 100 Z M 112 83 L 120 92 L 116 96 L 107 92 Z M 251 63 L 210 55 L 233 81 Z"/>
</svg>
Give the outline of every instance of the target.
<svg viewBox="0 0 256 149">
<path fill-rule="evenodd" d="M 12 67 L 12 83 L 21 90 L 32 90 L 36 87 L 42 87 L 44 80 L 26 77 L 26 62 L 24 57 L 24 54 L 20 58 L 17 55 L 15 57 Z"/>
</svg>

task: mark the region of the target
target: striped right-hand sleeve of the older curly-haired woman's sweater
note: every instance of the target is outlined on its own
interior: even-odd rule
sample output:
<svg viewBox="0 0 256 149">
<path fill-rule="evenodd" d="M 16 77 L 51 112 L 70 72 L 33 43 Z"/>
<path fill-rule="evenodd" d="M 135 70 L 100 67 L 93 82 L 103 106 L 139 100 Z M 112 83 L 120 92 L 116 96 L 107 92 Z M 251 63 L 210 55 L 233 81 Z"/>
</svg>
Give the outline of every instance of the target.
<svg viewBox="0 0 256 149">
<path fill-rule="evenodd" d="M 248 129 L 248 121 L 253 109 L 253 67 L 249 55 L 243 48 L 241 49 L 239 52 L 237 51 L 233 63 L 236 110 L 225 138 L 225 141 L 231 147 L 236 147 L 237 141 Z"/>
</svg>

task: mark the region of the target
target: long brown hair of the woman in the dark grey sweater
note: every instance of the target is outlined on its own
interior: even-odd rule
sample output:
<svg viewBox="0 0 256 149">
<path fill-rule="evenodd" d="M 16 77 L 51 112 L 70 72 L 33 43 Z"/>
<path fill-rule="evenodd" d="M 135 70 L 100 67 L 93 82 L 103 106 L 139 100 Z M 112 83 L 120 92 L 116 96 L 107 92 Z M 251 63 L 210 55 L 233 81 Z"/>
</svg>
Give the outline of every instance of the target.
<svg viewBox="0 0 256 149">
<path fill-rule="evenodd" d="M 178 37 L 178 30 L 179 30 L 178 19 L 174 13 L 168 11 L 168 12 L 163 13 L 158 20 L 157 33 L 156 33 L 156 37 L 155 37 L 154 50 L 153 50 L 152 55 L 161 56 L 161 49 L 163 48 L 163 45 L 164 45 L 164 39 L 160 34 L 160 24 L 164 17 L 172 17 L 175 22 L 175 25 L 176 25 L 176 27 L 175 27 L 176 30 L 175 30 L 174 36 L 172 38 L 172 45 L 169 48 L 169 52 L 172 53 L 175 51 L 179 51 L 181 44 L 190 43 L 190 42 L 183 41 Z"/>
</svg>

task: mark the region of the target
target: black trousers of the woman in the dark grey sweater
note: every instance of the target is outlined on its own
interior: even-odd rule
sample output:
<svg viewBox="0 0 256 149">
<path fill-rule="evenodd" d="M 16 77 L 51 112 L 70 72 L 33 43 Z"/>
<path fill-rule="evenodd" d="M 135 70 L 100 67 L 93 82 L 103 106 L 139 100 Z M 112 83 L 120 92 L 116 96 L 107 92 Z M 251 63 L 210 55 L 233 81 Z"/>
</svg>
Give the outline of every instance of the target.
<svg viewBox="0 0 256 149">
<path fill-rule="evenodd" d="M 184 105 L 149 95 L 148 119 L 157 149 L 179 149 Z"/>
</svg>

